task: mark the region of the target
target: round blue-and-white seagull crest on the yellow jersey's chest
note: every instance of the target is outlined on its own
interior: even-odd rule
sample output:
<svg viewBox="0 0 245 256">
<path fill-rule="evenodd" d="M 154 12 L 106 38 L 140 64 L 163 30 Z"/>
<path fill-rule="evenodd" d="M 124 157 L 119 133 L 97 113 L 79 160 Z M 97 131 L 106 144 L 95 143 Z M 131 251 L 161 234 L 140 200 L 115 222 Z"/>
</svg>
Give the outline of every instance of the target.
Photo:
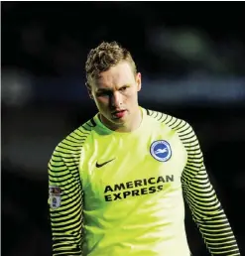
<svg viewBox="0 0 245 256">
<path fill-rule="evenodd" d="M 168 161 L 172 156 L 171 146 L 167 141 L 159 140 L 152 143 L 151 155 L 160 162 Z"/>
</svg>

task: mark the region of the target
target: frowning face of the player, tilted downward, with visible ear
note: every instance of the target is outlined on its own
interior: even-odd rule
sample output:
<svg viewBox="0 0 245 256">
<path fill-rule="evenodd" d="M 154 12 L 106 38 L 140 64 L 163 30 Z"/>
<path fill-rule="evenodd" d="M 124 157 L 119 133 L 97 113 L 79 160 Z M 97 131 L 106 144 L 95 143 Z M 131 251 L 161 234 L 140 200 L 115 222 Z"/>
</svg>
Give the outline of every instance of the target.
<svg viewBox="0 0 245 256">
<path fill-rule="evenodd" d="M 88 92 L 100 112 L 102 122 L 109 128 L 130 126 L 139 115 L 138 91 L 141 73 L 135 74 L 127 62 L 101 72 L 93 79 Z"/>
</svg>

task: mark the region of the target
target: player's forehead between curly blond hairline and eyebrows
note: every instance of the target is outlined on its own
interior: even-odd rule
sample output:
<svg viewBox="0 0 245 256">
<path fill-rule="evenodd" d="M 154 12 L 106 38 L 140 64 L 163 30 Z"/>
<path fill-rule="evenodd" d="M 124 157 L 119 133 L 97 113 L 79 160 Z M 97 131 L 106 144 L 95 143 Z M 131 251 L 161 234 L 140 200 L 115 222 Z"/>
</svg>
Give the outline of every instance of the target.
<svg viewBox="0 0 245 256">
<path fill-rule="evenodd" d="M 114 87 L 134 82 L 135 74 L 132 66 L 127 62 L 110 67 L 107 71 L 101 72 L 100 77 L 95 80 L 94 85 L 100 87 Z"/>
</svg>

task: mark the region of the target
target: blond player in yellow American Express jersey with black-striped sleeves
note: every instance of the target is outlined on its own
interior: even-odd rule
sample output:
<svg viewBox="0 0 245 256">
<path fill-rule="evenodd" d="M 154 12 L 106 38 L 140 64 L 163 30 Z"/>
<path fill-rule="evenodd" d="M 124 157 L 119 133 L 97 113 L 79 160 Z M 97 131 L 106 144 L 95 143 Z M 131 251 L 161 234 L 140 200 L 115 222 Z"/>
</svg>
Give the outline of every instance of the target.
<svg viewBox="0 0 245 256">
<path fill-rule="evenodd" d="M 184 198 L 211 255 L 240 255 L 190 125 L 138 105 L 141 73 L 117 43 L 85 68 L 98 113 L 49 163 L 53 255 L 189 256 Z"/>
</svg>

